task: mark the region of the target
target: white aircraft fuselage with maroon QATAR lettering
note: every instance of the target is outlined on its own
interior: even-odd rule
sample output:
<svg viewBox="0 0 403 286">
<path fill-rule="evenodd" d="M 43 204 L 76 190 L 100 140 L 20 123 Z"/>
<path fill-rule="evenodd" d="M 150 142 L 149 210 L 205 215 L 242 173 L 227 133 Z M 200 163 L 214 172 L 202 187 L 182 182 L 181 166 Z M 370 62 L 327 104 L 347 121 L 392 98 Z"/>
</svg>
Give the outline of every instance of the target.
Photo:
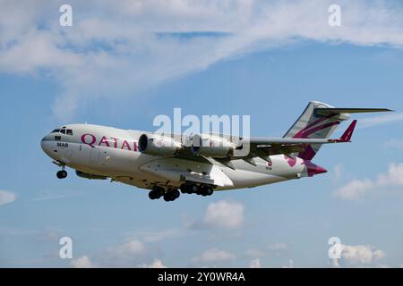
<svg viewBox="0 0 403 286">
<path fill-rule="evenodd" d="M 270 161 L 256 157 L 254 164 L 236 159 L 231 166 L 201 156 L 150 156 L 139 151 L 144 133 L 71 124 L 49 133 L 41 147 L 57 164 L 71 167 L 79 175 L 111 178 L 143 189 L 157 185 L 177 189 L 185 181 L 209 184 L 215 190 L 251 188 L 326 172 L 310 161 L 285 155 L 270 156 Z"/>
</svg>

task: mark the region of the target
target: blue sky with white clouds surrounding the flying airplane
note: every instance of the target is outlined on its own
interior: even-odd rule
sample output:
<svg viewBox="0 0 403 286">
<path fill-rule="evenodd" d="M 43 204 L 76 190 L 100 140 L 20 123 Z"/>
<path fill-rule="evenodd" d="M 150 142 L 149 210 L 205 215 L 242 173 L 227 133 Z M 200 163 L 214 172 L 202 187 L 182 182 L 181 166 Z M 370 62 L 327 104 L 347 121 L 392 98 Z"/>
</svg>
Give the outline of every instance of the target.
<svg viewBox="0 0 403 286">
<path fill-rule="evenodd" d="M 403 264 L 400 1 L 69 1 L 62 27 L 65 3 L 0 0 L 1 267 Z M 310 100 L 396 112 L 356 116 L 354 142 L 315 157 L 325 174 L 170 204 L 58 181 L 39 147 L 64 123 L 152 130 L 174 107 L 282 136 Z M 73 259 L 58 257 L 66 236 Z"/>
</svg>

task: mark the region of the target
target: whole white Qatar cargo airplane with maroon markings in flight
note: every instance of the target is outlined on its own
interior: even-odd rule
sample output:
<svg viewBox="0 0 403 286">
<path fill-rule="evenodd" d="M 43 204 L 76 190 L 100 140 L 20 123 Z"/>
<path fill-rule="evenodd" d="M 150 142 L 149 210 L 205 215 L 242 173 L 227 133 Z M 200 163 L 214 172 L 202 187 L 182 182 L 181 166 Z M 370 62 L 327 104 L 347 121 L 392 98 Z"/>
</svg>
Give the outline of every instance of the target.
<svg viewBox="0 0 403 286">
<path fill-rule="evenodd" d="M 283 138 L 235 140 L 200 134 L 190 143 L 180 136 L 71 124 L 50 132 L 41 147 L 62 168 L 59 179 L 67 177 L 68 166 L 82 178 L 110 178 L 150 189 L 151 199 L 173 201 L 180 191 L 210 196 L 217 190 L 253 188 L 327 172 L 312 160 L 323 144 L 350 142 L 356 121 L 341 138 L 330 139 L 339 123 L 352 113 L 386 111 L 390 110 L 334 108 L 312 101 Z M 249 152 L 236 156 L 235 150 L 244 144 L 249 144 Z"/>
</svg>

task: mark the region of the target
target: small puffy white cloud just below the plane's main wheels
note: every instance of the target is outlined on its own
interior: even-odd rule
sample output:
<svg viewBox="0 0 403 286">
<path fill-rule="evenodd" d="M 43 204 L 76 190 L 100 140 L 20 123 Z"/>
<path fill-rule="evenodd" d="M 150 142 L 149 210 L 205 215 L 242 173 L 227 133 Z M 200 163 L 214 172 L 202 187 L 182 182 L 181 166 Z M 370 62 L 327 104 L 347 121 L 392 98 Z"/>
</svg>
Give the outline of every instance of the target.
<svg viewBox="0 0 403 286">
<path fill-rule="evenodd" d="M 235 229 L 244 223 L 244 205 L 221 200 L 210 203 L 204 215 L 203 226 Z"/>
</svg>

